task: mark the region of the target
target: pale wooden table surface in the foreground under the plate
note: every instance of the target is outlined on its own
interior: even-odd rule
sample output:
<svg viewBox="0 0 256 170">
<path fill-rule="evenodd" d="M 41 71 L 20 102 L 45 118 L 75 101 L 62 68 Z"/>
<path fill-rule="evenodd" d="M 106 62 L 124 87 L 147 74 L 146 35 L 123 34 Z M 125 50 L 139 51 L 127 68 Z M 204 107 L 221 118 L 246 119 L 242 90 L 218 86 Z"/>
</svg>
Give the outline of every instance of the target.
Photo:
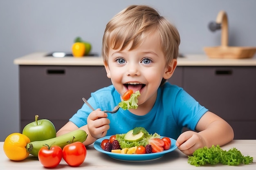
<svg viewBox="0 0 256 170">
<path fill-rule="evenodd" d="M 2 148 L 3 142 L 0 142 L 0 148 Z M 231 148 L 237 148 L 241 151 L 241 153 L 245 156 L 249 155 L 254 157 L 253 163 L 249 165 L 240 164 L 239 166 L 227 166 L 218 164 L 215 166 L 201 166 L 195 167 L 187 163 L 188 158 L 184 155 L 180 150 L 175 150 L 173 152 L 167 153 L 160 159 L 154 161 L 146 161 L 146 162 L 125 162 L 118 161 L 108 157 L 101 152 L 98 152 L 93 148 L 92 145 L 87 146 L 87 156 L 85 158 L 84 163 L 76 167 L 76 169 L 97 169 L 97 170 L 131 170 L 131 169 L 141 169 L 141 170 L 149 170 L 149 169 L 162 169 L 162 170 L 255 170 L 256 169 L 256 140 L 234 140 L 229 144 L 222 146 L 223 150 L 229 150 Z M 56 167 L 61 169 L 71 169 L 70 166 L 65 163 L 62 159 L 61 163 Z M 55 168 L 55 169 L 56 169 Z M 29 156 L 27 159 L 23 161 L 10 161 L 4 151 L 0 150 L 0 169 L 1 170 L 45 170 L 45 168 L 41 165 L 36 157 Z"/>
</svg>

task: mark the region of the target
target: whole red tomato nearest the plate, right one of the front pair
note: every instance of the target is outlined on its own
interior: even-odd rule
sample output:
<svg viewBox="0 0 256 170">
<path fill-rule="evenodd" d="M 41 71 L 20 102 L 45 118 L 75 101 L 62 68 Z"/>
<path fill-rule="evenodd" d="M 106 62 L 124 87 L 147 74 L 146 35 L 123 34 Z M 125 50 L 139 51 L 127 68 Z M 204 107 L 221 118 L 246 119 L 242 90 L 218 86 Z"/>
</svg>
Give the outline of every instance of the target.
<svg viewBox="0 0 256 170">
<path fill-rule="evenodd" d="M 86 157 L 87 150 L 82 142 L 76 141 L 68 144 L 63 148 L 63 159 L 69 166 L 79 166 L 83 163 Z"/>
</svg>

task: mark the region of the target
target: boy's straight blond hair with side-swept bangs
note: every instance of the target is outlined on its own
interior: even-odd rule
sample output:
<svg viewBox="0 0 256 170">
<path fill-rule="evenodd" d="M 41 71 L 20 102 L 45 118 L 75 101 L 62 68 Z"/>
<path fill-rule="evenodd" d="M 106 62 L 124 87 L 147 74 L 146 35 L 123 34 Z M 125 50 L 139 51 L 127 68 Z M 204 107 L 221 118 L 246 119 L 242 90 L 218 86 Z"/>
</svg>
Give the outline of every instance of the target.
<svg viewBox="0 0 256 170">
<path fill-rule="evenodd" d="M 159 33 L 167 66 L 178 56 L 180 35 L 175 26 L 155 9 L 145 5 L 131 5 L 108 22 L 102 41 L 101 55 L 104 62 L 108 62 L 110 48 L 123 50 L 132 42 L 130 50 L 135 49 L 153 30 Z"/>
</svg>

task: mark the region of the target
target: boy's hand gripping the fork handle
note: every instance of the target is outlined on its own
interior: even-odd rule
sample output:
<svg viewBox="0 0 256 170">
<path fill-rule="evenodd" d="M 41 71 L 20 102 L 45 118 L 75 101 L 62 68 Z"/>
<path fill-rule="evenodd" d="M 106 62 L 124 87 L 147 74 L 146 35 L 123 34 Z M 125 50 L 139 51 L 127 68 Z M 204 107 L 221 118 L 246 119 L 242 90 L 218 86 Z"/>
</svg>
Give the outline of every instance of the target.
<svg viewBox="0 0 256 170">
<path fill-rule="evenodd" d="M 110 124 L 107 117 L 108 114 L 102 112 L 99 108 L 90 113 L 87 118 L 87 126 L 92 137 L 98 139 L 106 136 Z"/>
</svg>

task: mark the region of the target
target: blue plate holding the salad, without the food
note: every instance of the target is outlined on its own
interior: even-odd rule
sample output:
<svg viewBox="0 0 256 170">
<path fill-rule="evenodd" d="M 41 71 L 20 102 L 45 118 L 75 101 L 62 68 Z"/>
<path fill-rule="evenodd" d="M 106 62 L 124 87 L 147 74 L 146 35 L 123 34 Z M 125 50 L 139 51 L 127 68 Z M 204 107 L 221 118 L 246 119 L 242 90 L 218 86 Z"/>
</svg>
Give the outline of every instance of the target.
<svg viewBox="0 0 256 170">
<path fill-rule="evenodd" d="M 177 149 L 177 146 L 175 145 L 176 140 L 175 139 L 171 139 L 171 147 L 168 150 L 164 150 L 163 152 L 157 152 L 157 153 L 149 153 L 149 154 L 121 154 L 121 153 L 112 153 L 112 152 L 107 152 L 105 150 L 103 150 L 101 148 L 101 141 L 103 141 L 104 139 L 109 139 L 111 136 L 106 136 L 100 139 L 97 139 L 94 142 L 94 148 L 96 150 L 98 150 L 99 152 L 105 153 L 107 154 L 109 157 L 113 158 L 113 159 L 117 159 L 120 161 L 151 161 L 154 159 L 159 159 L 162 156 L 164 156 L 164 154 L 171 152 L 175 149 Z M 161 137 L 162 138 L 162 137 Z"/>
</svg>

